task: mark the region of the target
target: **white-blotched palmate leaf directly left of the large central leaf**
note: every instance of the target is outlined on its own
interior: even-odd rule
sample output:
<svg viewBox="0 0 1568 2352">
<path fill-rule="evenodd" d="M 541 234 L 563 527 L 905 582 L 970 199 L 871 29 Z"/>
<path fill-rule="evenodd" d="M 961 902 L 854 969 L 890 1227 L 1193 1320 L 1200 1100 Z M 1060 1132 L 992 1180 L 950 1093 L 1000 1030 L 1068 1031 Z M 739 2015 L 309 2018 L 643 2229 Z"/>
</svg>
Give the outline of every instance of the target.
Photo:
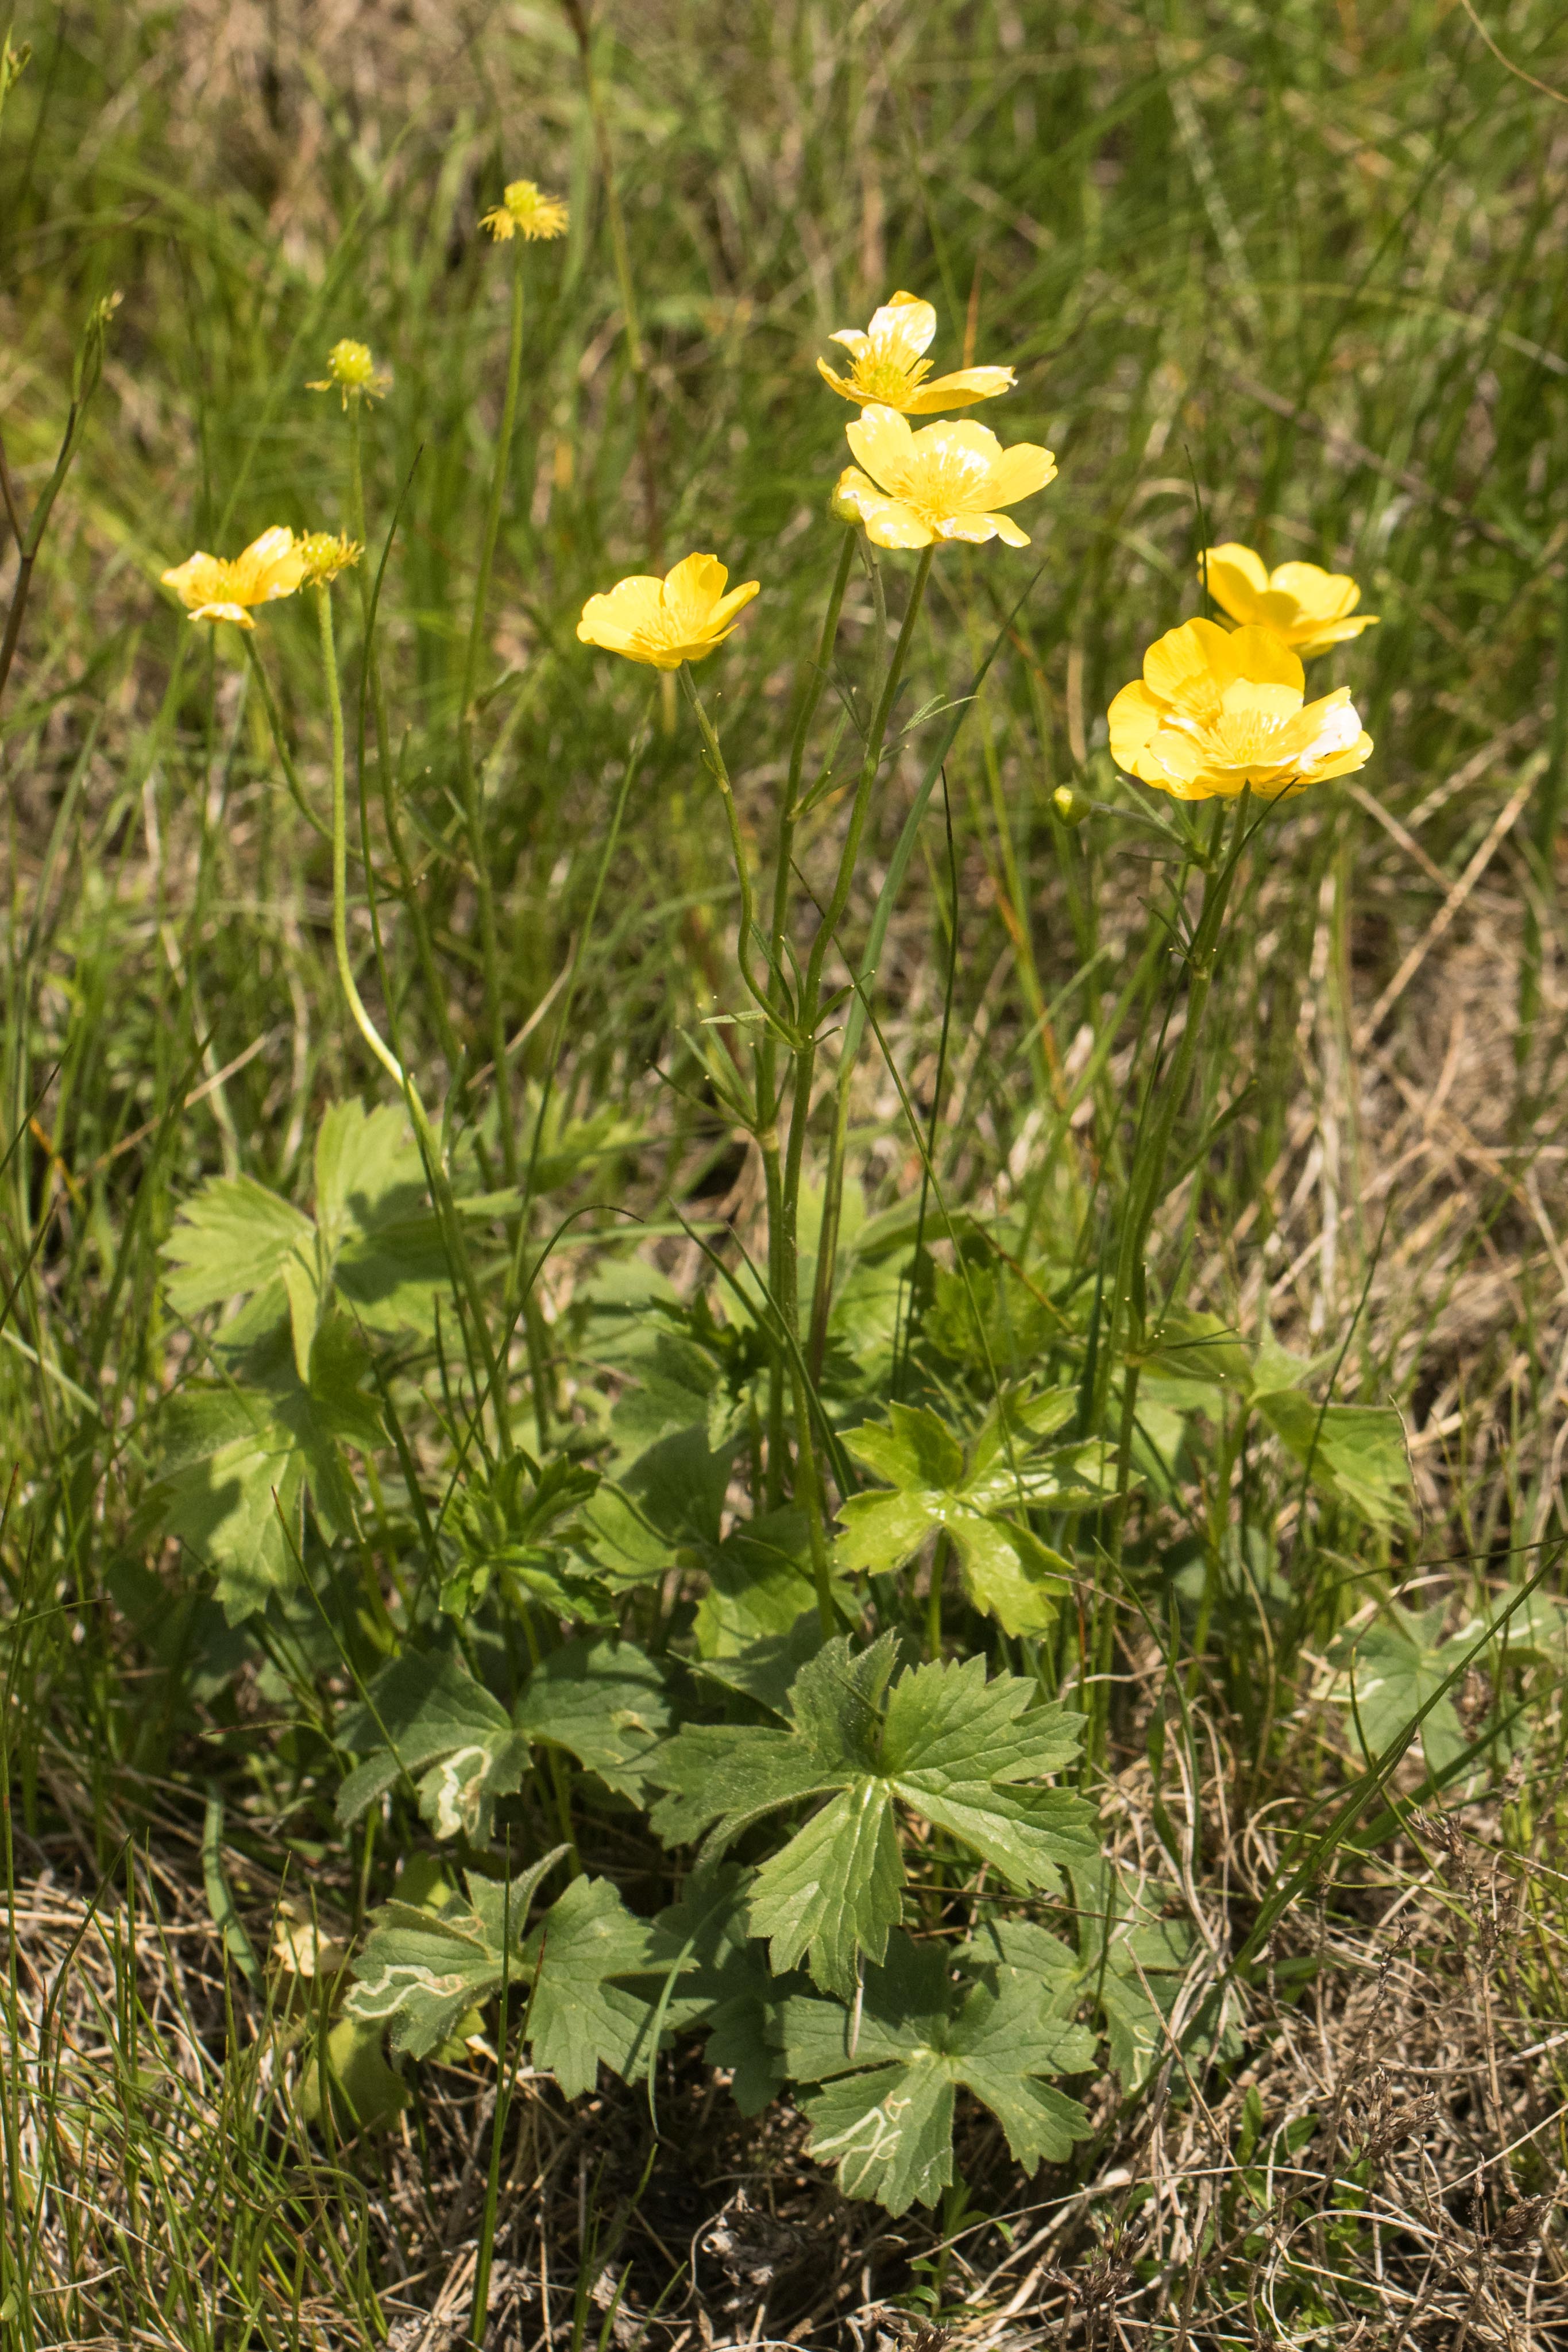
<svg viewBox="0 0 1568 2352">
<path fill-rule="evenodd" d="M 461 1658 L 404 1656 L 341 1724 L 341 1745 L 367 1762 L 339 1790 L 339 1823 L 355 1823 L 409 1773 L 437 1837 L 484 1844 L 496 1799 L 522 1788 L 538 1740 L 639 1799 L 668 1724 L 663 1672 L 635 1642 L 562 1642 L 534 1668 L 512 1715 Z"/>
</svg>

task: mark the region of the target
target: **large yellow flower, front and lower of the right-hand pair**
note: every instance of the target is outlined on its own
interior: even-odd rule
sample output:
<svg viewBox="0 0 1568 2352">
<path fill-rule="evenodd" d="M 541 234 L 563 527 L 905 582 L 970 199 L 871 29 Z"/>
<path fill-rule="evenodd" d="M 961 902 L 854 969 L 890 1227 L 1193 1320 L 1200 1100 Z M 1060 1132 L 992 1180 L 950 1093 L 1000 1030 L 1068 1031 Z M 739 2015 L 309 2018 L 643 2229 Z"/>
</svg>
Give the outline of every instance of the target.
<svg viewBox="0 0 1568 2352">
<path fill-rule="evenodd" d="M 1284 637 L 1253 623 L 1182 621 L 1143 656 L 1143 680 L 1110 706 L 1110 750 L 1175 800 L 1291 800 L 1326 776 L 1366 767 L 1373 739 L 1349 687 L 1305 701 L 1305 670 Z"/>
</svg>

